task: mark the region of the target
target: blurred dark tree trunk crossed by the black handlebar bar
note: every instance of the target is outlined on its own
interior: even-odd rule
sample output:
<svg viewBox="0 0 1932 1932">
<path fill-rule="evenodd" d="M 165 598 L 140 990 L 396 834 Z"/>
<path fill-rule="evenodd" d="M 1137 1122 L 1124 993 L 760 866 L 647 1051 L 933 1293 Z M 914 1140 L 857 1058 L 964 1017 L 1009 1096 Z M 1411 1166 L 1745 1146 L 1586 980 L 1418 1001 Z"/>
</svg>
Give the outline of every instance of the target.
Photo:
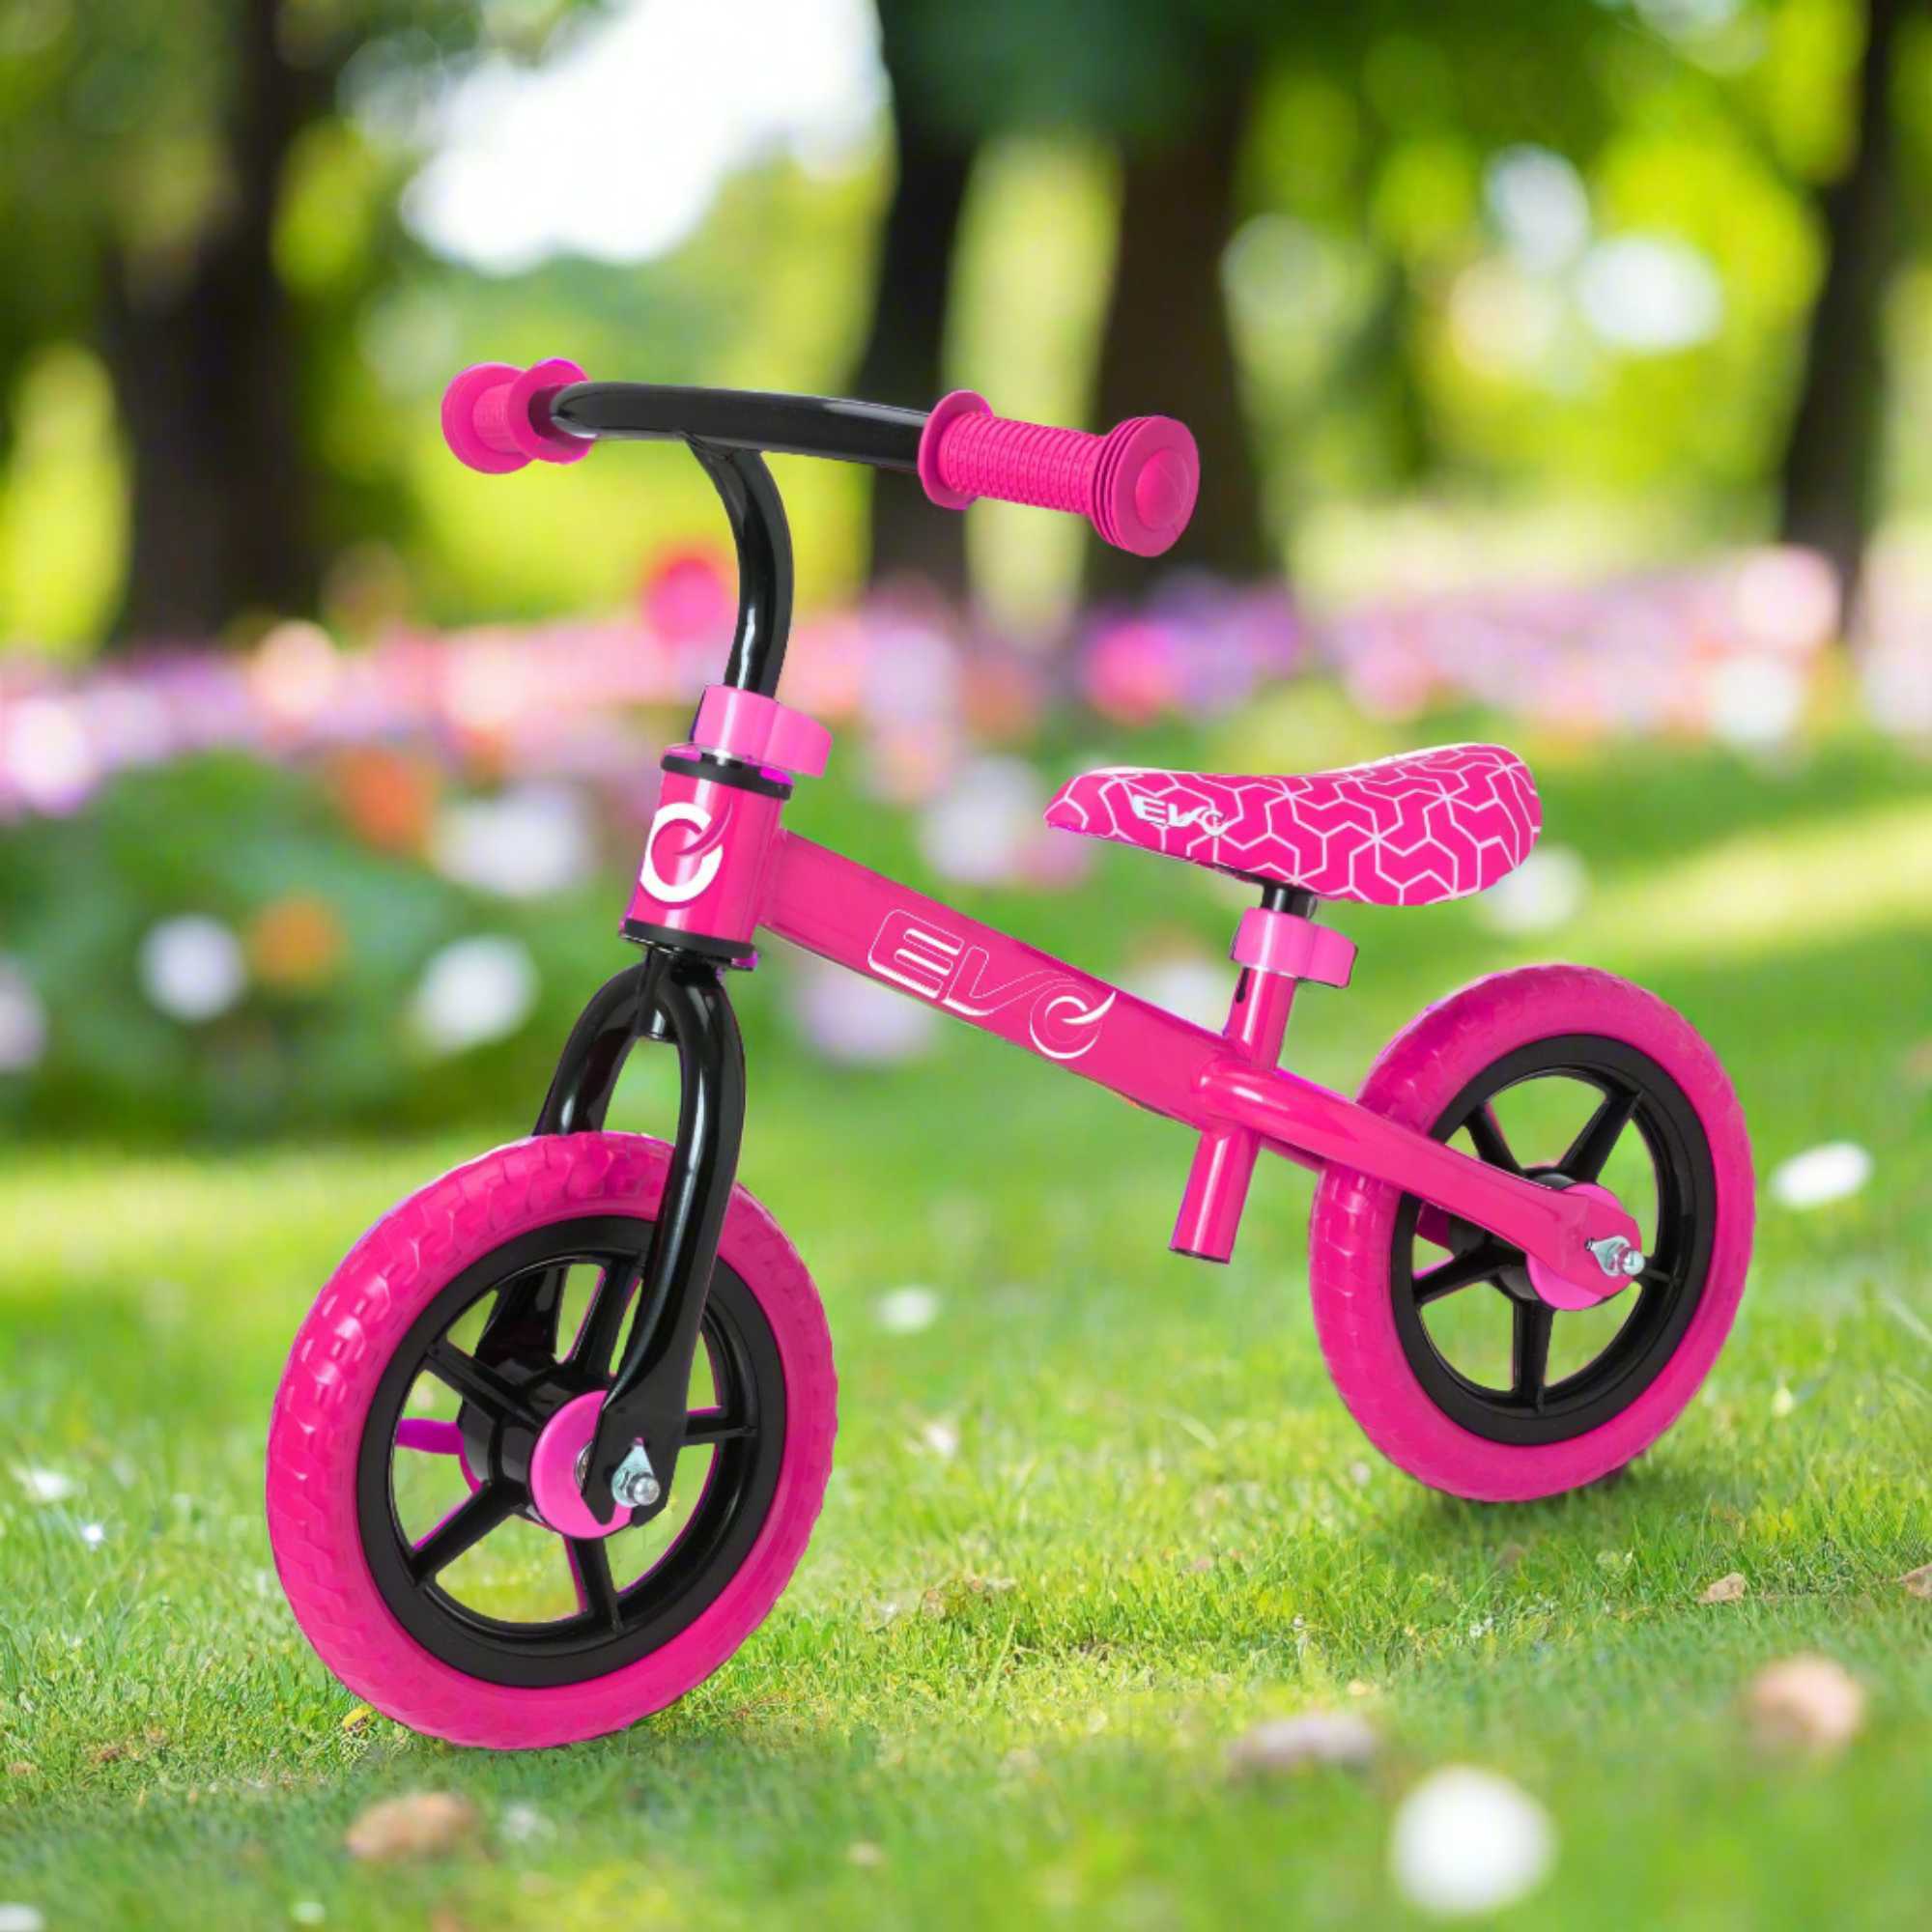
<svg viewBox="0 0 1932 1932">
<path fill-rule="evenodd" d="M 871 334 L 854 388 L 867 402 L 929 410 L 945 390 L 947 296 L 972 151 L 929 124 L 920 85 L 908 70 L 898 8 L 879 8 L 879 41 L 893 83 L 898 178 L 879 245 Z M 881 473 L 871 489 L 871 578 L 906 574 L 920 574 L 951 597 L 964 597 L 966 522 L 935 510 L 912 479 Z"/>
</svg>

